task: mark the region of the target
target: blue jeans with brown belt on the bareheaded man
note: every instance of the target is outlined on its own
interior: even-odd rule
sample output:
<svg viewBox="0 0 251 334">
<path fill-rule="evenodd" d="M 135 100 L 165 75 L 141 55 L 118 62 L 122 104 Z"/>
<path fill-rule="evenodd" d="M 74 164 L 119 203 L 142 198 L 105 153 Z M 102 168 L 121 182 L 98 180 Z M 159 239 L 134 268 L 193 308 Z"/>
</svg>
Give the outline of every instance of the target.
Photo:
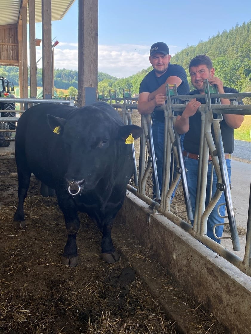
<svg viewBox="0 0 251 334">
<path fill-rule="evenodd" d="M 187 183 L 188 183 L 188 190 L 190 193 L 190 199 L 191 199 L 191 205 L 192 205 L 192 211 L 194 215 L 194 210 L 195 210 L 195 199 L 196 199 L 196 187 L 197 187 L 197 172 L 198 172 L 198 160 L 191 159 L 191 158 L 185 158 L 184 160 L 185 163 L 185 168 L 187 169 Z M 231 182 L 231 159 L 226 159 L 226 164 L 227 164 L 227 170 L 228 170 L 228 178 L 229 178 L 229 183 Z M 207 185 L 206 185 L 206 202 L 205 202 L 205 207 L 209 203 L 209 196 L 210 196 L 210 181 L 211 181 L 211 172 L 212 172 L 212 161 L 208 163 L 208 172 L 207 172 Z M 213 176 L 213 188 L 212 188 L 212 196 L 214 195 L 216 191 L 216 183 L 217 183 L 217 177 L 216 173 L 214 170 L 214 176 Z M 222 192 L 222 195 L 217 202 L 216 206 L 214 207 L 213 211 L 208 217 L 207 220 L 207 230 L 206 230 L 206 235 L 210 237 L 211 239 L 215 240 L 218 243 L 221 243 L 221 240 L 216 239 L 213 233 L 213 227 L 215 224 L 222 224 L 224 223 L 224 218 L 220 217 L 217 208 L 219 204 L 225 203 L 225 195 L 224 192 Z M 225 216 L 225 205 L 221 205 L 219 212 L 222 216 Z M 193 221 L 191 221 L 193 225 Z M 223 233 L 223 225 L 222 226 L 217 226 L 215 229 L 216 235 L 218 237 L 222 236 Z"/>
</svg>

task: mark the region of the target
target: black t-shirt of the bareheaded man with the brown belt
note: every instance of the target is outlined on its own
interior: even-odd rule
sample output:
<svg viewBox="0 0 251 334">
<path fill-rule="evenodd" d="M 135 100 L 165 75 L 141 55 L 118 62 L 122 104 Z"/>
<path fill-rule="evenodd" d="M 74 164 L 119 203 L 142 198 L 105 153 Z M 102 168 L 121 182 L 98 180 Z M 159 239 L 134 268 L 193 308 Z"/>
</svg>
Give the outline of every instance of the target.
<svg viewBox="0 0 251 334">
<path fill-rule="evenodd" d="M 238 93 L 234 88 L 224 87 L 225 93 Z M 192 91 L 189 95 L 200 94 L 198 90 Z M 205 99 L 197 99 L 201 104 L 205 104 Z M 211 100 L 211 104 L 215 104 L 214 99 Z M 239 101 L 238 104 L 243 104 L 242 101 Z M 214 114 L 214 118 L 217 118 L 217 114 Z M 222 141 L 225 153 L 233 153 L 234 151 L 234 129 L 230 128 L 224 117 L 220 122 Z M 199 140 L 200 140 L 200 131 L 201 131 L 201 115 L 196 113 L 195 115 L 189 117 L 189 130 L 184 137 L 184 150 L 193 153 L 199 154 Z M 215 134 L 212 126 L 212 136 L 215 142 Z"/>
</svg>

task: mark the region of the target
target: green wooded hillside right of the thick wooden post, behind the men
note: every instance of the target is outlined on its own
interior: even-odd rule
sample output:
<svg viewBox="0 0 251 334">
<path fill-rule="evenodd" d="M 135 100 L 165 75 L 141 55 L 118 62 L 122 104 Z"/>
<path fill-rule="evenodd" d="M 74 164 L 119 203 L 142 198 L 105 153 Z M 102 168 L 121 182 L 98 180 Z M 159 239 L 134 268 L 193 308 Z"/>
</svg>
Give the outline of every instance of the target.
<svg viewBox="0 0 251 334">
<path fill-rule="evenodd" d="M 215 75 L 223 80 L 225 86 L 240 92 L 251 92 L 251 21 L 241 26 L 236 25 L 229 31 L 218 32 L 207 41 L 199 41 L 196 46 L 187 46 L 177 52 L 171 58 L 171 63 L 185 68 L 189 83 L 189 62 L 198 54 L 206 54 L 212 59 L 216 69 Z M 116 89 L 122 95 L 121 89 L 127 88 L 131 89 L 132 94 L 138 94 L 140 82 L 150 70 L 152 66 L 128 78 L 117 80 L 106 78 L 99 82 L 98 90 L 108 94 L 109 89 Z M 190 88 L 192 89 L 191 83 Z"/>
</svg>

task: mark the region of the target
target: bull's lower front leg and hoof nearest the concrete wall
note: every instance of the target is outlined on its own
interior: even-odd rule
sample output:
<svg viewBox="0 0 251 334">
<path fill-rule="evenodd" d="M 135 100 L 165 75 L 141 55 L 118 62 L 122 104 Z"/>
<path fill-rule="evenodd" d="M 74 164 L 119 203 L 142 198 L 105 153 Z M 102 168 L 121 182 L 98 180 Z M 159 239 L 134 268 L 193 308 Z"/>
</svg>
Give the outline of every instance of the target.
<svg viewBox="0 0 251 334">
<path fill-rule="evenodd" d="M 111 240 L 111 229 L 112 222 L 109 221 L 103 225 L 103 237 L 101 242 L 102 253 L 100 255 L 101 259 L 108 263 L 117 262 L 120 259 L 118 252 Z"/>
</svg>

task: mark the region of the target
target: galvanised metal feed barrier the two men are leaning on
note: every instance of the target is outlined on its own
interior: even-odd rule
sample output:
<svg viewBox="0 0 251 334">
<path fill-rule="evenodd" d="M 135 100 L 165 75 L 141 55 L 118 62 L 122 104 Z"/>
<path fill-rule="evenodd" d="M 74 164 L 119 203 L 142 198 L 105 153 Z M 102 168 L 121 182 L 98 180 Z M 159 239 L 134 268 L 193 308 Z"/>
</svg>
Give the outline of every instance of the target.
<svg viewBox="0 0 251 334">
<path fill-rule="evenodd" d="M 230 184 L 228 181 L 227 167 L 225 154 L 223 150 L 222 136 L 220 130 L 220 121 L 223 118 L 223 114 L 239 114 L 239 115 L 251 115 L 251 105 L 238 105 L 238 102 L 233 101 L 230 105 L 221 105 L 220 98 L 227 98 L 230 100 L 242 100 L 245 97 L 250 97 L 251 93 L 231 93 L 231 94 L 218 94 L 218 92 L 213 91 L 208 85 L 208 81 L 205 80 L 207 93 L 202 95 L 184 95 L 178 96 L 176 94 L 175 86 L 168 86 L 166 88 L 167 103 L 158 108 L 164 112 L 165 116 L 165 142 L 164 142 L 164 153 L 163 153 L 163 187 L 160 199 L 158 182 L 155 183 L 156 187 L 156 200 L 153 200 L 146 195 L 146 181 L 149 177 L 149 173 L 153 171 L 154 179 L 157 178 L 157 166 L 156 158 L 154 153 L 154 146 L 152 140 L 152 127 L 150 115 L 141 116 L 141 126 L 144 129 L 144 133 L 141 137 L 140 142 L 140 158 L 139 158 L 139 186 L 138 189 L 132 185 L 128 185 L 128 190 L 130 190 L 137 197 L 141 198 L 148 205 L 150 205 L 154 211 L 158 211 L 163 214 L 175 224 L 182 227 L 184 230 L 189 232 L 196 239 L 201 241 L 207 247 L 211 248 L 213 251 L 218 253 L 220 256 L 225 258 L 227 261 L 232 263 L 234 266 L 239 268 L 242 272 L 251 276 L 251 191 L 249 200 L 249 212 L 247 218 L 247 235 L 246 235 L 246 248 L 244 259 L 236 256 L 234 253 L 215 242 L 211 238 L 206 236 L 206 226 L 207 218 L 215 207 L 218 199 L 220 198 L 222 191 L 224 191 L 226 199 L 226 208 L 228 223 L 230 226 L 231 239 L 233 243 L 234 251 L 240 249 L 239 236 L 236 227 L 236 220 L 234 215 L 232 196 Z M 130 90 L 128 91 L 128 97 L 123 96 L 123 98 L 117 98 L 114 91 L 109 92 L 109 98 L 104 98 L 104 94 L 98 94 L 99 101 L 106 101 L 110 103 L 114 108 L 120 109 L 124 117 L 131 113 L 132 110 L 137 109 L 138 98 L 132 98 L 130 96 Z M 171 212 L 171 195 L 179 183 L 180 178 L 182 179 L 182 186 L 184 192 L 184 200 L 186 204 L 187 217 L 188 220 L 193 219 L 191 203 L 189 198 L 189 192 L 186 182 L 186 173 L 184 169 L 183 154 L 180 143 L 180 138 L 177 133 L 175 133 L 173 128 L 173 123 L 175 122 L 176 116 L 182 113 L 185 109 L 185 104 L 179 104 L 179 100 L 188 101 L 192 98 L 204 98 L 205 103 L 202 104 L 198 112 L 201 114 L 201 138 L 200 138 L 200 159 L 198 167 L 198 181 L 197 181 L 197 197 L 195 204 L 195 216 L 193 227 L 188 222 L 179 218 L 175 213 Z M 211 104 L 211 99 L 215 99 L 214 105 Z M 130 103 L 132 102 L 133 103 Z M 214 114 L 218 117 L 214 118 Z M 217 150 L 213 141 L 211 134 L 211 127 L 213 126 L 215 133 L 215 140 Z M 173 152 L 176 160 L 176 177 L 172 180 L 169 185 L 170 173 L 172 173 L 171 166 L 171 152 Z M 207 175 L 208 168 L 208 155 L 212 156 L 213 168 L 216 171 L 218 189 L 215 194 L 211 195 L 211 201 L 205 208 L 205 195 L 206 195 L 206 178 L 202 177 Z"/>
</svg>

